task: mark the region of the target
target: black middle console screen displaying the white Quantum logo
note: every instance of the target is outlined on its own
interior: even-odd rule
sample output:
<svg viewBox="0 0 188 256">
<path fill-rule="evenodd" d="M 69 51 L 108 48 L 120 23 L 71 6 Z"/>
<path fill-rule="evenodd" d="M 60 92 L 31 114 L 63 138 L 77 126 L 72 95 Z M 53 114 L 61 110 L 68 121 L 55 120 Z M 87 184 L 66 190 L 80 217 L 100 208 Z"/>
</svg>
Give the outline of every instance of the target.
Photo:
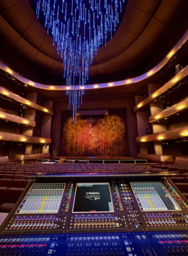
<svg viewBox="0 0 188 256">
<path fill-rule="evenodd" d="M 73 212 L 113 212 L 109 183 L 77 183 Z"/>
</svg>

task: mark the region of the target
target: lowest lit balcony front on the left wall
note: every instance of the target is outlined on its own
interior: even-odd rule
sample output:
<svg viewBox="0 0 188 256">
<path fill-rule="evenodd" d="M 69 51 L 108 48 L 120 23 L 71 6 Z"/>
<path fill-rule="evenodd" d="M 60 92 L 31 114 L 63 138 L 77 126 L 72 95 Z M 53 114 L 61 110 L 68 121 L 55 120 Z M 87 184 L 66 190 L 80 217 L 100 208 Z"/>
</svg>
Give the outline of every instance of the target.
<svg viewBox="0 0 188 256">
<path fill-rule="evenodd" d="M 51 139 L 44 137 L 32 137 L 21 134 L 5 133 L 0 131 L 0 140 L 2 141 L 20 141 L 27 143 L 51 143 Z"/>
</svg>

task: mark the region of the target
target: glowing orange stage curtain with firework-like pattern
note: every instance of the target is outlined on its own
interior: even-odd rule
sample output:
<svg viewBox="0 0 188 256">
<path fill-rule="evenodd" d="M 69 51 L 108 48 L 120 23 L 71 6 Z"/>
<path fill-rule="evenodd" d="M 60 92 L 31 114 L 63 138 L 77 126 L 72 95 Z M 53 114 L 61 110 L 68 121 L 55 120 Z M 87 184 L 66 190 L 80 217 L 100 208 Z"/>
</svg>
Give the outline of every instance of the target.
<svg viewBox="0 0 188 256">
<path fill-rule="evenodd" d="M 77 116 L 63 113 L 62 156 L 127 156 L 126 110 L 109 110 L 108 115 Z"/>
</svg>

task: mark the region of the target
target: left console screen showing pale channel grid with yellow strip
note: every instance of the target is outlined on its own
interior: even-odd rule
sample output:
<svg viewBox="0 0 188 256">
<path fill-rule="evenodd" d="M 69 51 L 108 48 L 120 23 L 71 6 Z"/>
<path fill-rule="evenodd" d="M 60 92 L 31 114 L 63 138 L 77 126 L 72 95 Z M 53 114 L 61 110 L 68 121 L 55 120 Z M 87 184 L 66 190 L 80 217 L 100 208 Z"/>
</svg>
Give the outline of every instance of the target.
<svg viewBox="0 0 188 256">
<path fill-rule="evenodd" d="M 19 205 L 16 214 L 57 214 L 64 185 L 35 183 Z"/>
</svg>

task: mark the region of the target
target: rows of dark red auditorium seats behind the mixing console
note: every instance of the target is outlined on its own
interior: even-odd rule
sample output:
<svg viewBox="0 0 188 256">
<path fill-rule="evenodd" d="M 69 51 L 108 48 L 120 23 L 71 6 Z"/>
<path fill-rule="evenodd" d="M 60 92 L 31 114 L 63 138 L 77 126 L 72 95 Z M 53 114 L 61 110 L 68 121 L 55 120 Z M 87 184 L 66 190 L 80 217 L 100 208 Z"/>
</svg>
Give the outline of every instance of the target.
<svg viewBox="0 0 188 256">
<path fill-rule="evenodd" d="M 188 199 L 188 165 L 178 164 L 20 164 L 18 162 L 1 162 L 0 164 L 0 212 L 9 212 L 21 193 L 28 185 L 30 177 L 28 174 L 38 172 L 158 172 L 169 171 L 177 173 L 171 179 L 177 188 Z"/>
</svg>

